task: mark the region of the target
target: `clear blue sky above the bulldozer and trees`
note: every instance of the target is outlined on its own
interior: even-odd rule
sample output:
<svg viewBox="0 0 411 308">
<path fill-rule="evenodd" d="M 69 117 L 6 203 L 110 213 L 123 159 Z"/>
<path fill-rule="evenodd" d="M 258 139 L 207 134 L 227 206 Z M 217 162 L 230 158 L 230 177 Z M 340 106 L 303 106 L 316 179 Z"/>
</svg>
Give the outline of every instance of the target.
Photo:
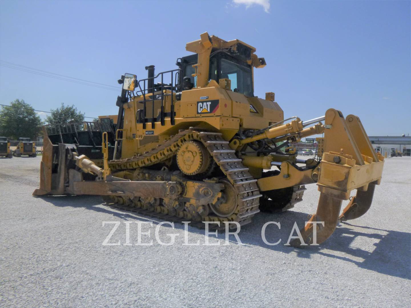
<svg viewBox="0 0 411 308">
<path fill-rule="evenodd" d="M 116 114 L 122 74 L 175 69 L 207 31 L 256 47 L 267 66 L 255 70 L 254 93 L 275 92 L 285 117 L 336 108 L 369 135 L 411 133 L 410 16 L 410 1 L 1 1 L 1 61 L 118 92 L 0 66 L 0 103 Z"/>
</svg>

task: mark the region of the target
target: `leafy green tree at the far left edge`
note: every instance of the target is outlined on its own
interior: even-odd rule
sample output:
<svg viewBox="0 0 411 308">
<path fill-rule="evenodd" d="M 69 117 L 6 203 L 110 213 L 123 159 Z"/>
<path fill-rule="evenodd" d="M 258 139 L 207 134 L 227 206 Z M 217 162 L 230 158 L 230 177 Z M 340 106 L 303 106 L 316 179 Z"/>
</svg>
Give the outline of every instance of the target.
<svg viewBox="0 0 411 308">
<path fill-rule="evenodd" d="M 42 131 L 42 120 L 30 104 L 16 99 L 10 106 L 0 109 L 0 136 L 18 140 L 19 137 L 34 140 Z"/>
</svg>

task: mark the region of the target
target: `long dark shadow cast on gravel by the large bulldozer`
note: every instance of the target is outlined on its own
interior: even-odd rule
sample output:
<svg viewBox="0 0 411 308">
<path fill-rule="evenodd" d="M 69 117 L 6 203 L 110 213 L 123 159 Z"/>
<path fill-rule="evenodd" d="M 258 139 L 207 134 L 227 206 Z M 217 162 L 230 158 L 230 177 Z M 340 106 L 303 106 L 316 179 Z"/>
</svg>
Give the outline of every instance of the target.
<svg viewBox="0 0 411 308">
<path fill-rule="evenodd" d="M 41 198 L 57 207 L 83 207 L 123 220 L 139 219 L 152 221 L 155 225 L 163 221 L 161 218 L 138 213 L 134 214 L 130 211 L 115 209 L 110 207 L 110 205 L 107 206 L 107 204 L 102 205 L 104 202 L 99 196 L 62 195 L 35 198 Z M 323 255 L 351 262 L 358 267 L 381 274 L 411 280 L 411 269 L 409 267 L 411 233 L 363 227 L 350 223 L 339 223 L 332 236 L 320 246 L 307 246 L 306 248 L 285 246 L 284 244 L 287 243 L 290 237 L 294 223 L 297 223 L 298 229 L 302 228 L 305 221 L 307 221 L 307 216 L 307 213 L 297 211 L 287 211 L 280 214 L 259 213 L 254 216 L 251 224 L 242 226 L 241 232 L 238 235 L 242 244 L 247 246 L 261 246 L 273 251 L 281 251 L 282 253 L 295 253 L 296 257 L 301 258 L 310 258 L 314 254 Z M 266 241 L 276 243 L 281 239 L 279 244 L 273 246 L 264 243 L 261 236 L 263 225 L 270 221 L 278 222 L 281 226 L 281 228 L 278 228 L 275 224 L 269 224 L 266 227 Z M 183 230 L 184 224 L 175 223 L 175 229 Z M 205 234 L 204 230 L 192 226 L 189 226 L 188 231 L 196 234 Z M 293 235 L 296 235 L 295 231 Z M 214 237 L 214 235 L 211 235 L 211 237 Z M 366 237 L 370 242 L 374 243 L 375 248 L 372 251 L 367 251 L 365 248 L 353 246 L 354 240 L 358 237 Z M 224 230 L 218 232 L 217 238 L 222 241 L 225 240 Z M 237 244 L 237 240 L 233 235 L 229 237 L 229 240 L 231 245 Z M 403 243 L 405 247 L 401 254 L 396 249 L 399 243 Z"/>
</svg>

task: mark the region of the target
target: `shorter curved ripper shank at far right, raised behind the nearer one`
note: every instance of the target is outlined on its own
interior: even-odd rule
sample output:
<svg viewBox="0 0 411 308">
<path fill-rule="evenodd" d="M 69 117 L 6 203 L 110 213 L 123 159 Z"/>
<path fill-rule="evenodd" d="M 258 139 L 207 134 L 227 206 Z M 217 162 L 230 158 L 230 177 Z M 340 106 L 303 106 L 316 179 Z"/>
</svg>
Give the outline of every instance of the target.
<svg viewBox="0 0 411 308">
<path fill-rule="evenodd" d="M 367 213 L 371 207 L 375 184 L 375 182 L 369 183 L 366 191 L 357 190 L 357 194 L 342 211 L 342 214 L 339 216 L 338 220 L 347 221 L 350 219 L 356 219 Z"/>
</svg>

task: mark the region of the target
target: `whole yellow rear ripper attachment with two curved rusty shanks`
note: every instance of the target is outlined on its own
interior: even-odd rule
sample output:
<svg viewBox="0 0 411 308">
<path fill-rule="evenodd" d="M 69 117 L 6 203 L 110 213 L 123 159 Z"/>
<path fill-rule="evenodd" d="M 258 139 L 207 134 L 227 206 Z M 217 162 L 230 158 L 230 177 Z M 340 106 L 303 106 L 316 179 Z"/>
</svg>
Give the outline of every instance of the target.
<svg viewBox="0 0 411 308">
<path fill-rule="evenodd" d="M 371 207 L 375 184 L 381 182 L 384 157 L 365 142 L 368 137 L 358 117 L 349 115 L 347 120 L 350 124 L 339 110 L 326 112 L 324 154 L 317 183 L 321 194 L 316 214 L 310 219 L 323 225 L 308 223 L 301 229 L 302 240 L 294 239 L 293 246 L 313 244 L 314 231 L 316 243 L 321 244 L 334 232 L 338 220 L 358 218 Z M 348 200 L 354 189 L 356 197 L 339 216 L 342 201 Z"/>
</svg>

